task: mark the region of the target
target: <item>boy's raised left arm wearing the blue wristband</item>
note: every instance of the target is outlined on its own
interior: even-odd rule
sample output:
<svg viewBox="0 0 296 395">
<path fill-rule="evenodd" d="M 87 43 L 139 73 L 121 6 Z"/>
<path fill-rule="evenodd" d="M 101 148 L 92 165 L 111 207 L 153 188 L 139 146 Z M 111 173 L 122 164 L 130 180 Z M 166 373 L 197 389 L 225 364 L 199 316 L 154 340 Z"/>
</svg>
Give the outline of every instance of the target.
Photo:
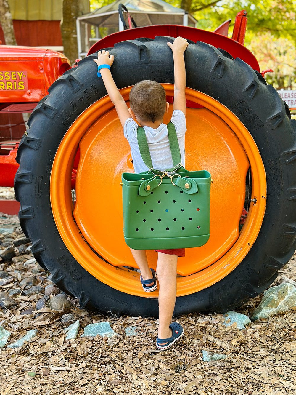
<svg viewBox="0 0 296 395">
<path fill-rule="evenodd" d="M 98 66 L 101 66 L 102 64 L 108 64 L 111 67 L 113 60 L 114 60 L 114 56 L 109 55 L 109 51 L 103 50 L 97 53 L 97 59 L 94 59 L 94 62 L 96 62 Z M 131 117 L 129 115 L 126 102 L 124 101 L 124 98 L 119 93 L 116 84 L 114 83 L 111 71 L 107 68 L 103 68 L 99 72 L 101 73 L 109 97 L 115 106 L 116 113 L 118 115 L 120 123 L 122 124 L 122 127 L 124 127 L 127 118 Z"/>
</svg>

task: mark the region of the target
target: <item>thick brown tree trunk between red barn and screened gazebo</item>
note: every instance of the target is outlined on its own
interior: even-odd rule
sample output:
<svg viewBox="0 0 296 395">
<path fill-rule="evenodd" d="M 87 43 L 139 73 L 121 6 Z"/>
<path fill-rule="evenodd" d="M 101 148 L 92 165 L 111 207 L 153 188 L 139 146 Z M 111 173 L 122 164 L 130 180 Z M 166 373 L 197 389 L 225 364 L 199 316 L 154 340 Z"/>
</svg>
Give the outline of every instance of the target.
<svg viewBox="0 0 296 395">
<path fill-rule="evenodd" d="M 76 18 L 90 11 L 89 0 L 62 0 L 62 21 L 60 23 L 64 54 L 71 64 L 78 58 Z"/>
</svg>

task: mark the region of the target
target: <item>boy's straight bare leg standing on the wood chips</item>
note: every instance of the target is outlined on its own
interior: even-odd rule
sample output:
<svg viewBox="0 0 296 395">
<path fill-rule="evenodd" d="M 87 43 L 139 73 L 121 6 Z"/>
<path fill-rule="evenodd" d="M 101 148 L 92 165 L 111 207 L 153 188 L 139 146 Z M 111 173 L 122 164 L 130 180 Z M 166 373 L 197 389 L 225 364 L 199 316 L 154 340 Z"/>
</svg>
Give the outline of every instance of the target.
<svg viewBox="0 0 296 395">
<path fill-rule="evenodd" d="M 169 325 L 176 303 L 178 255 L 158 253 L 157 278 L 159 282 L 159 327 L 158 338 L 172 336 Z M 166 343 L 159 343 L 160 345 Z"/>
</svg>

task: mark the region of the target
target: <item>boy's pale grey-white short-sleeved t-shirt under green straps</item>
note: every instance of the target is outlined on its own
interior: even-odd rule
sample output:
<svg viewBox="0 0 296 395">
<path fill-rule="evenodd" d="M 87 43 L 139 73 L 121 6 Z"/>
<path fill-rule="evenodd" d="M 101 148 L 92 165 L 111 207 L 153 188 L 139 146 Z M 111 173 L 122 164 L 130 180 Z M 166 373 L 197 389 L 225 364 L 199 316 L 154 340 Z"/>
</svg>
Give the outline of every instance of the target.
<svg viewBox="0 0 296 395">
<path fill-rule="evenodd" d="M 181 163 L 185 167 L 186 119 L 184 113 L 180 110 L 174 110 L 170 122 L 175 125 L 181 153 Z M 137 139 L 138 126 L 137 122 L 132 118 L 128 118 L 124 124 L 124 137 L 126 137 L 131 147 L 131 157 L 133 159 L 135 173 L 142 173 L 143 171 L 148 170 L 148 167 L 144 164 L 140 154 Z M 162 123 L 157 129 L 153 129 L 150 126 L 144 126 L 144 131 L 148 142 L 153 168 L 163 171 L 174 167 L 172 154 L 170 152 L 167 125 Z"/>
</svg>

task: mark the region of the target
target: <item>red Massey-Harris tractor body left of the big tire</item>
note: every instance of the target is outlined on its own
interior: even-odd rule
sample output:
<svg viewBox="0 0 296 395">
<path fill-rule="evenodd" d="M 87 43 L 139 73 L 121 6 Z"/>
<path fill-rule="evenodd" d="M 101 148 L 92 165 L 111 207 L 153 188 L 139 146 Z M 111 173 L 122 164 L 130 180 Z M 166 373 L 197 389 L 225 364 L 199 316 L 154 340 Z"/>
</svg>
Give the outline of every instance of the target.
<svg viewBox="0 0 296 395">
<path fill-rule="evenodd" d="M 52 83 L 70 67 L 66 56 L 50 49 L 1 45 L 1 113 L 11 114 L 13 119 L 15 113 L 31 112 Z M 8 151 L 0 155 L 0 186 L 13 186 L 19 167 L 15 162 L 18 145 L 19 141 L 0 141 L 0 150 Z"/>
</svg>

